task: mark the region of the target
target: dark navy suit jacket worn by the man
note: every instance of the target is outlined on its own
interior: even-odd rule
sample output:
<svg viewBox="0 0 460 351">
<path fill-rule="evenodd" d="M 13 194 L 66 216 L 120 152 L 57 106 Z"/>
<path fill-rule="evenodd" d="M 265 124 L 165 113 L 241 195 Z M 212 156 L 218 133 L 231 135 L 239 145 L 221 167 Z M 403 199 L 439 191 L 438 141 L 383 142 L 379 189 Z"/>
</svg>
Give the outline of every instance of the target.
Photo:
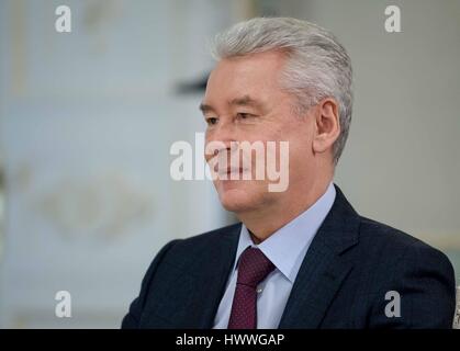
<svg viewBox="0 0 460 351">
<path fill-rule="evenodd" d="M 451 328 L 455 278 L 446 256 L 359 216 L 335 186 L 336 200 L 304 257 L 279 328 Z M 240 226 L 167 244 L 122 328 L 212 328 Z M 385 299 L 390 291 L 400 294 L 400 317 L 385 315 L 396 302 Z"/>
</svg>

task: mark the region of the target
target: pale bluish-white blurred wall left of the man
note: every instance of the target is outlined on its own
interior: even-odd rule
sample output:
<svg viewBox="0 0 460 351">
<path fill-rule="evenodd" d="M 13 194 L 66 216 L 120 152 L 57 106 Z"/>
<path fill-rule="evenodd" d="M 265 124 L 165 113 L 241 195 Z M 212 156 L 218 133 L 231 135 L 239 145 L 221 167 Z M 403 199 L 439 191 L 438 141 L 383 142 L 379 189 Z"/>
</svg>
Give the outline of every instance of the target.
<svg viewBox="0 0 460 351">
<path fill-rule="evenodd" d="M 225 3 L 66 3 L 69 34 L 60 1 L 0 2 L 3 327 L 116 328 L 162 245 L 225 222 L 210 182 L 169 174 L 171 144 L 204 128 L 201 95 L 176 87 L 210 69 Z"/>
</svg>

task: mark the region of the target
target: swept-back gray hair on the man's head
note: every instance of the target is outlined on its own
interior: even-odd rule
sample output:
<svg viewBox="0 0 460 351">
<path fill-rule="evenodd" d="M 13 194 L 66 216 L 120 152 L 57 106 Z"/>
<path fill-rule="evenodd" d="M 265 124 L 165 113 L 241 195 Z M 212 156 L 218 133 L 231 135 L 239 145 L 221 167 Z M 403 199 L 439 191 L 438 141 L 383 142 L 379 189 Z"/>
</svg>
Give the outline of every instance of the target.
<svg viewBox="0 0 460 351">
<path fill-rule="evenodd" d="M 255 18 L 217 34 L 212 43 L 215 59 L 280 49 L 289 59 L 281 75 L 282 88 L 298 100 L 304 112 L 324 98 L 339 107 L 340 135 L 334 144 L 338 162 L 351 122 L 351 60 L 329 31 L 296 19 Z"/>
</svg>

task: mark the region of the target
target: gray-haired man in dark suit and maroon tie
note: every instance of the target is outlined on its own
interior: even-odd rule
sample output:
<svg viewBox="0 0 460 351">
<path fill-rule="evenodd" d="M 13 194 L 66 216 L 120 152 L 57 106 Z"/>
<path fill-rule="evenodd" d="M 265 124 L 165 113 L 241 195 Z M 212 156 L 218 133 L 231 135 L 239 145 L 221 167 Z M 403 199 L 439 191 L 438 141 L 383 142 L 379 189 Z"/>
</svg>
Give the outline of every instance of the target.
<svg viewBox="0 0 460 351">
<path fill-rule="evenodd" d="M 242 223 L 166 245 L 122 327 L 450 328 L 446 256 L 361 217 L 333 183 L 352 103 L 337 39 L 300 20 L 253 19 L 218 35 L 214 55 L 205 157 Z M 244 141 L 288 141 L 289 186 L 269 191 L 253 168 L 214 162 Z"/>
</svg>

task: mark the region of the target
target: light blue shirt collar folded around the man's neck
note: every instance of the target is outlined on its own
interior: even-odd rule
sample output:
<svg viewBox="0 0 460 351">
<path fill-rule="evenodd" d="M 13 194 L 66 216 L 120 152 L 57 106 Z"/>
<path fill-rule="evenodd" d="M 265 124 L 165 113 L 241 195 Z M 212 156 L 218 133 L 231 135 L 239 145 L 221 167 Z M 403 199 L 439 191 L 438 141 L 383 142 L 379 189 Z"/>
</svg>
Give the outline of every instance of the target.
<svg viewBox="0 0 460 351">
<path fill-rule="evenodd" d="M 243 224 L 236 251 L 236 262 L 248 246 L 259 248 L 274 267 L 293 283 L 317 229 L 334 204 L 335 196 L 336 190 L 330 182 L 326 192 L 308 210 L 258 245 L 253 242 L 249 230 Z"/>
</svg>

